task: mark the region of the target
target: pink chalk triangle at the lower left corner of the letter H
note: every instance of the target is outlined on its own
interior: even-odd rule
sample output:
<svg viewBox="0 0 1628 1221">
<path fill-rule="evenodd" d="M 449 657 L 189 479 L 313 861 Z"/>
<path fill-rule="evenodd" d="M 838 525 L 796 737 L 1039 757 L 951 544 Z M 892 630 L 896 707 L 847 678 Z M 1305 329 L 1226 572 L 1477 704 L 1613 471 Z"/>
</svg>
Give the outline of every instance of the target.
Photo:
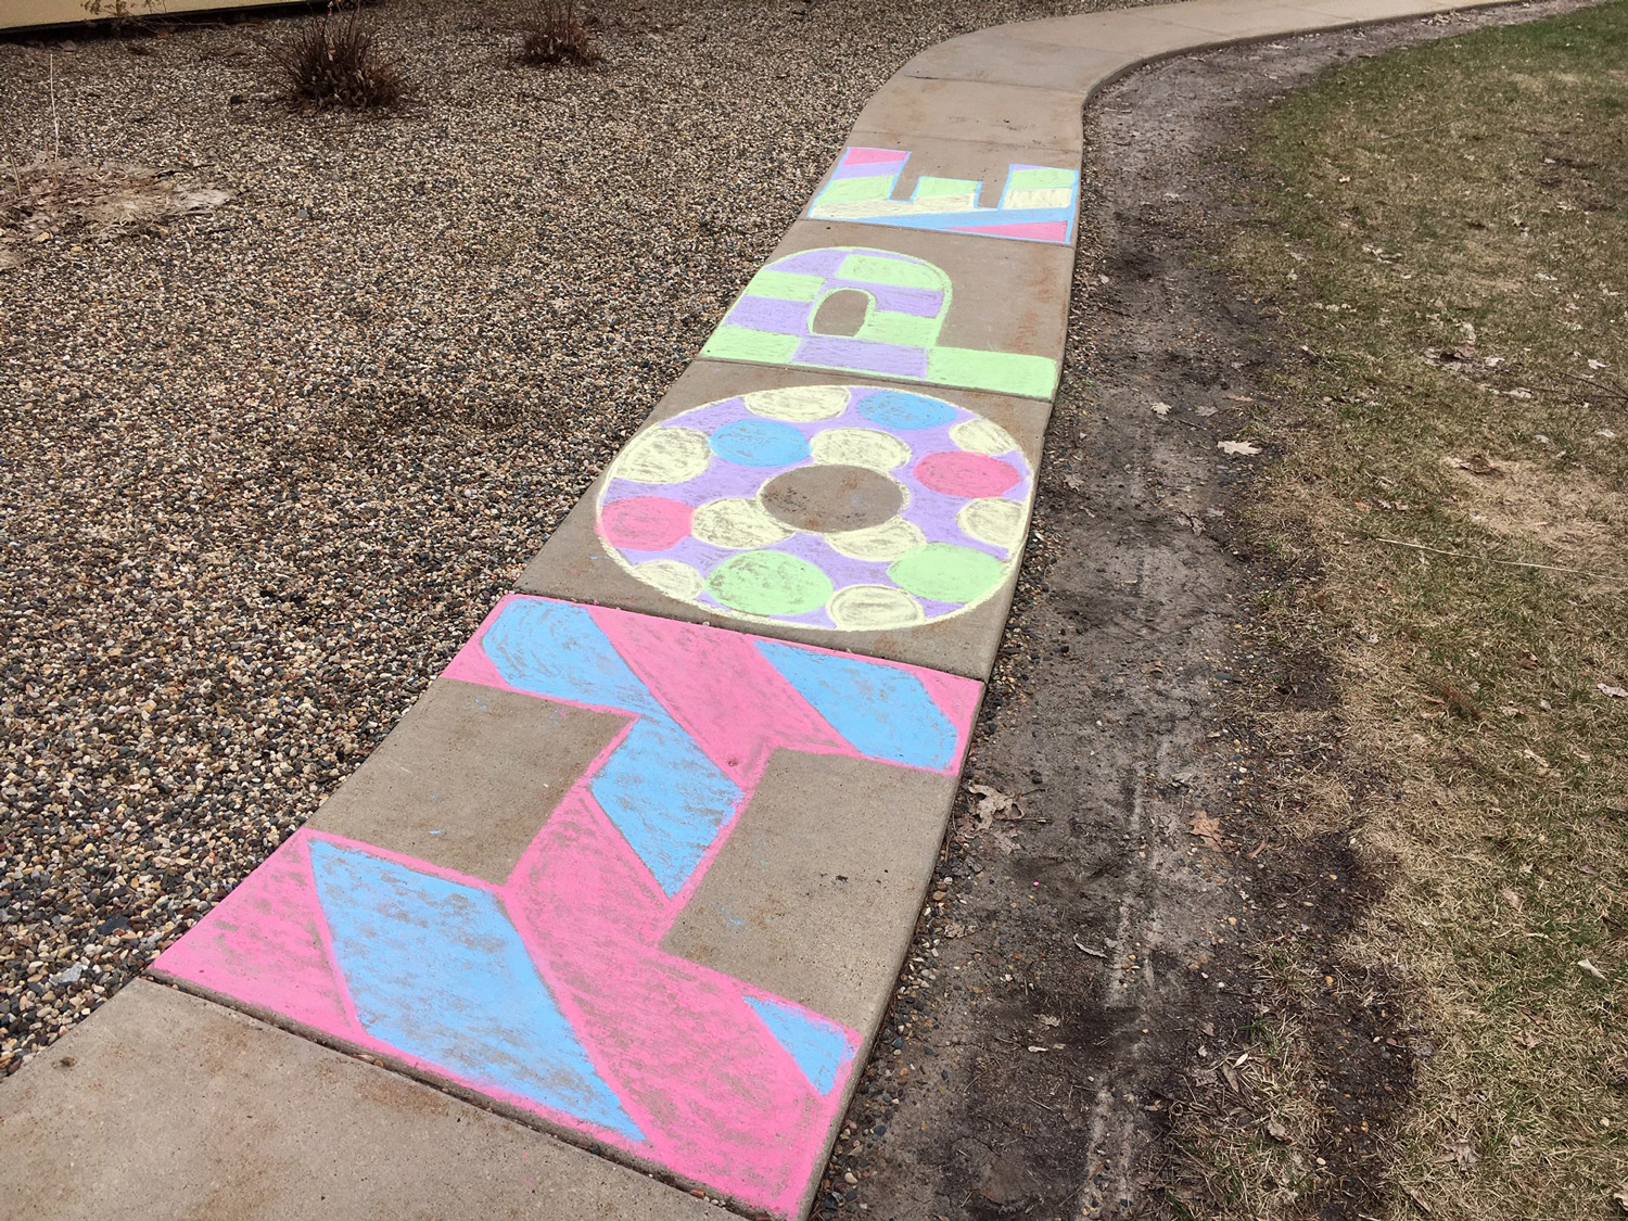
<svg viewBox="0 0 1628 1221">
<path fill-rule="evenodd" d="M 274 851 L 153 970 L 344 1039 L 365 1039 L 327 949 L 306 832 Z"/>
</svg>

